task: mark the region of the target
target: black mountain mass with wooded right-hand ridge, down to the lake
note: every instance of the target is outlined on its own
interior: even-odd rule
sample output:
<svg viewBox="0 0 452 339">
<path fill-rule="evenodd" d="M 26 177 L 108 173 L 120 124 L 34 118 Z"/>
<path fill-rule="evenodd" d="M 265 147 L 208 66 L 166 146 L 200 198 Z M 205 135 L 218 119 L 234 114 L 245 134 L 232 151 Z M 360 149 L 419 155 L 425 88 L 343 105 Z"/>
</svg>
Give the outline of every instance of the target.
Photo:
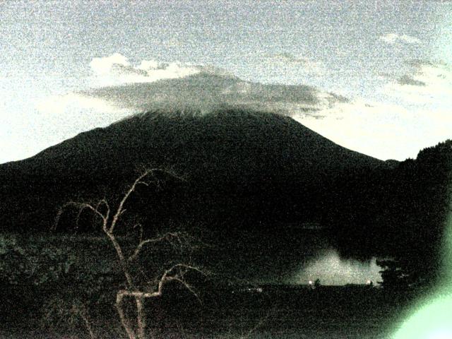
<svg viewBox="0 0 452 339">
<path fill-rule="evenodd" d="M 1 228 L 49 232 L 66 201 L 114 202 L 146 167 L 184 178 L 158 174 L 159 189 L 141 188 L 130 201 L 128 215 L 138 215 L 148 232 L 184 225 L 231 251 L 248 251 L 268 239 L 296 246 L 305 225 L 314 224 L 344 256 L 405 251 L 436 260 L 451 141 L 416 160 L 383 162 L 280 114 L 148 112 L 0 165 Z M 67 215 L 60 229 L 73 227 Z"/>
</svg>

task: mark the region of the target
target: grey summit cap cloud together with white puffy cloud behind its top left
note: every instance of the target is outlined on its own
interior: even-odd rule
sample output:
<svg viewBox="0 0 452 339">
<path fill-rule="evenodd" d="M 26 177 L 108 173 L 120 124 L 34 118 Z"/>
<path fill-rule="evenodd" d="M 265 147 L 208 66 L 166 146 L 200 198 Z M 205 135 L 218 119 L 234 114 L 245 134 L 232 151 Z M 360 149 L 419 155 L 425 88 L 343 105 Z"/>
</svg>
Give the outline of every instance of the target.
<svg viewBox="0 0 452 339">
<path fill-rule="evenodd" d="M 286 58 L 287 55 L 285 56 Z M 295 61 L 294 61 L 295 62 Z M 296 62 L 306 63 L 304 59 Z M 144 112 L 158 108 L 194 108 L 208 112 L 216 107 L 242 107 L 287 115 L 316 115 L 347 98 L 309 85 L 278 85 L 242 81 L 222 69 L 144 60 L 132 66 L 113 54 L 95 58 L 91 69 L 101 84 L 78 95 L 102 100 L 119 109 Z M 115 81 L 109 82 L 111 78 Z"/>
</svg>

